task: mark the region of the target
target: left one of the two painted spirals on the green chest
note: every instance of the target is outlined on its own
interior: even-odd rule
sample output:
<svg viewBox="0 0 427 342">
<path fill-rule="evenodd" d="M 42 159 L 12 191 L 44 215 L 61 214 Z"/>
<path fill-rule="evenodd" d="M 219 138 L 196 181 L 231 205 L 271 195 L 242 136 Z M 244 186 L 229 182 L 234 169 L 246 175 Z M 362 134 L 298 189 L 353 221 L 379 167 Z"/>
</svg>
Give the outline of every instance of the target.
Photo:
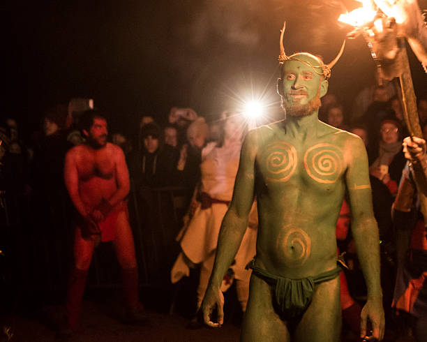
<svg viewBox="0 0 427 342">
<path fill-rule="evenodd" d="M 269 144 L 263 159 L 268 181 L 287 181 L 297 168 L 297 151 L 287 142 Z"/>
</svg>

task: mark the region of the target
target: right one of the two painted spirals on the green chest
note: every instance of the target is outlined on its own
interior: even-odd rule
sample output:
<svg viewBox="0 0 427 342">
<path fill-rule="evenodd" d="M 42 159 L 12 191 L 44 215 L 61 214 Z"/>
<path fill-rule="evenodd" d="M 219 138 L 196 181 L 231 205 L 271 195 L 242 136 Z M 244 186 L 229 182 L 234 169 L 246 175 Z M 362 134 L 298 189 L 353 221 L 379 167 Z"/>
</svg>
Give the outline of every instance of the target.
<svg viewBox="0 0 427 342">
<path fill-rule="evenodd" d="M 316 144 L 304 154 L 304 167 L 315 181 L 335 183 L 343 172 L 343 154 L 333 144 Z"/>
</svg>

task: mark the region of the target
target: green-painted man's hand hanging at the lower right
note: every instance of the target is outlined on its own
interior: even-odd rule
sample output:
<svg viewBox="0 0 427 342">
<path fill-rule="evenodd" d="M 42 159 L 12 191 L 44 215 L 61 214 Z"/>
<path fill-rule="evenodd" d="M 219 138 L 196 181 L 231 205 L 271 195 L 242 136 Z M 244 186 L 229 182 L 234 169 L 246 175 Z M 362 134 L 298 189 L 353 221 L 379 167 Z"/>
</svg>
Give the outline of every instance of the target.
<svg viewBox="0 0 427 342">
<path fill-rule="evenodd" d="M 362 308 L 360 317 L 360 337 L 362 339 L 368 337 L 366 334 L 366 325 L 369 319 L 373 329 L 372 336 L 378 341 L 381 341 L 384 337 L 385 327 L 382 297 L 378 297 L 377 299 L 368 299 L 368 302 L 366 302 L 364 308 Z"/>
</svg>

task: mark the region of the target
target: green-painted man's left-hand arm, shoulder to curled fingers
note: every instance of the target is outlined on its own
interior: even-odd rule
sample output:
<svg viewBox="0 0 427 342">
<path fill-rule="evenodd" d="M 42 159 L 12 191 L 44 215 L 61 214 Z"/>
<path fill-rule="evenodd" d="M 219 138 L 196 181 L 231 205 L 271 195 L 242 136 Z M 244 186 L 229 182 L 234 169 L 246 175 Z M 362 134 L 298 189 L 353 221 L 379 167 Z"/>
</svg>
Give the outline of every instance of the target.
<svg viewBox="0 0 427 342">
<path fill-rule="evenodd" d="M 220 285 L 248 226 L 248 216 L 254 198 L 256 134 L 256 131 L 250 131 L 241 149 L 232 202 L 221 224 L 215 264 L 202 302 L 204 322 L 211 327 L 223 324 L 223 295 L 220 292 Z M 218 309 L 216 323 L 212 322 L 210 317 L 215 307 Z"/>
</svg>

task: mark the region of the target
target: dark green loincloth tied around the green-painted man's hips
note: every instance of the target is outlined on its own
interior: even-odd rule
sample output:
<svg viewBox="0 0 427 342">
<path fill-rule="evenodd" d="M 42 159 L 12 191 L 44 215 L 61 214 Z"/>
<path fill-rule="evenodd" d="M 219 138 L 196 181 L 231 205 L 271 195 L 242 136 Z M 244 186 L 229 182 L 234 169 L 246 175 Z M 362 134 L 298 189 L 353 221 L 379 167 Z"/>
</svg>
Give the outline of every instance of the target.
<svg viewBox="0 0 427 342">
<path fill-rule="evenodd" d="M 255 262 L 250 262 L 248 268 L 252 269 L 252 273 L 258 278 L 263 279 L 270 285 L 274 285 L 274 307 L 283 320 L 296 318 L 301 313 L 306 311 L 306 308 L 313 297 L 314 285 L 324 281 L 330 281 L 336 278 L 341 267 L 336 267 L 330 271 L 323 272 L 317 276 L 308 276 L 307 278 L 290 279 L 281 276 L 274 276 L 260 267 L 256 267 Z"/>
</svg>

